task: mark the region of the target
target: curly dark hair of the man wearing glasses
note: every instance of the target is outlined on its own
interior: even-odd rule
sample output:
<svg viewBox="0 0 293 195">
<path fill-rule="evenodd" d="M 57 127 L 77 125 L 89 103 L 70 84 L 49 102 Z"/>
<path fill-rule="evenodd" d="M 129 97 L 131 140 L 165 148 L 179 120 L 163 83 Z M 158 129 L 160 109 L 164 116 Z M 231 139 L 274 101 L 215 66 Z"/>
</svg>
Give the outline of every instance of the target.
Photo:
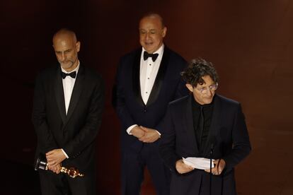
<svg viewBox="0 0 293 195">
<path fill-rule="evenodd" d="M 193 85 L 193 87 L 196 87 L 197 83 L 200 85 L 205 83 L 202 79 L 203 76 L 210 76 L 215 83 L 219 80 L 212 63 L 202 58 L 192 59 L 185 71 L 181 72 L 181 76 L 186 83 Z"/>
</svg>

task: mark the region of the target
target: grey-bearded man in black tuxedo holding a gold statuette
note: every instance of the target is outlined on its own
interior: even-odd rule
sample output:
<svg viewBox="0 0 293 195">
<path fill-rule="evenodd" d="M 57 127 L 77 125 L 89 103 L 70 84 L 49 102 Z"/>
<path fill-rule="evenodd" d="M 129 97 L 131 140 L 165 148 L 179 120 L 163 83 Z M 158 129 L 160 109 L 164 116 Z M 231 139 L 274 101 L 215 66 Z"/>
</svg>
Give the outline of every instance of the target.
<svg viewBox="0 0 293 195">
<path fill-rule="evenodd" d="M 103 81 L 79 61 L 81 42 L 73 31 L 58 30 L 52 41 L 59 64 L 40 71 L 33 100 L 36 155 L 45 155 L 48 162 L 47 171 L 39 170 L 42 194 L 96 194 Z M 59 174 L 61 167 L 76 167 L 84 177 Z"/>
</svg>

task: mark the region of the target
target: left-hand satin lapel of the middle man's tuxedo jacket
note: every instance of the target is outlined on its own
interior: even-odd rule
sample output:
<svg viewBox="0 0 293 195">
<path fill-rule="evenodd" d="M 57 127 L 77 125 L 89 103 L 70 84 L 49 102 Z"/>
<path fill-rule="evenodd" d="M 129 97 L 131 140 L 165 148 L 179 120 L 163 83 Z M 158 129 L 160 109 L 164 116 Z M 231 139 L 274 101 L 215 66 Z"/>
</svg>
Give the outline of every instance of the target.
<svg viewBox="0 0 293 195">
<path fill-rule="evenodd" d="M 134 54 L 134 61 L 132 65 L 132 88 L 134 91 L 134 96 L 139 102 L 140 105 L 144 105 L 144 101 L 142 100 L 142 94 L 140 92 L 140 57 L 142 54 L 142 48 L 137 49 L 137 52 Z"/>
</svg>

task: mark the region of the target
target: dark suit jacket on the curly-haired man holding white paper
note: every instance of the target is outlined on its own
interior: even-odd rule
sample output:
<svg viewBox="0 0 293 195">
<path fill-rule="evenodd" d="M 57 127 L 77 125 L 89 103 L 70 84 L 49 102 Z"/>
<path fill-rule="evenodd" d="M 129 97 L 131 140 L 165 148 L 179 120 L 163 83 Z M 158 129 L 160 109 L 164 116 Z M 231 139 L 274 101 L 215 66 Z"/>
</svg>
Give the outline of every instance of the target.
<svg viewBox="0 0 293 195">
<path fill-rule="evenodd" d="M 191 98 L 193 95 L 171 102 L 163 121 L 160 153 L 173 171 L 171 191 L 175 194 L 198 194 L 201 186 L 203 194 L 209 194 L 209 173 L 193 170 L 179 175 L 175 166 L 176 161 L 183 157 L 209 158 L 213 143 L 212 158 L 224 159 L 226 167 L 222 175 L 212 176 L 212 194 L 236 194 L 234 167 L 251 151 L 241 105 L 234 100 L 214 95 L 212 124 L 204 156 L 200 156 L 193 128 Z"/>
</svg>

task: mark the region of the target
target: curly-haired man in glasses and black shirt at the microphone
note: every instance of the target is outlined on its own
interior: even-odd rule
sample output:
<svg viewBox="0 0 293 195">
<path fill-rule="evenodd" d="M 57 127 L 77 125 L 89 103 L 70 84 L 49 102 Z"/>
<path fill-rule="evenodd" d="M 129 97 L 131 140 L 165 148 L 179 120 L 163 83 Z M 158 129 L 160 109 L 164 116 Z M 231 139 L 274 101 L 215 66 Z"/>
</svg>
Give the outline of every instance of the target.
<svg viewBox="0 0 293 195">
<path fill-rule="evenodd" d="M 191 94 L 168 105 L 160 145 L 171 194 L 236 194 L 234 167 L 251 151 L 241 105 L 215 93 L 217 71 L 205 59 L 193 59 L 181 75 Z M 211 158 L 214 167 L 198 168 L 190 157 Z"/>
</svg>

